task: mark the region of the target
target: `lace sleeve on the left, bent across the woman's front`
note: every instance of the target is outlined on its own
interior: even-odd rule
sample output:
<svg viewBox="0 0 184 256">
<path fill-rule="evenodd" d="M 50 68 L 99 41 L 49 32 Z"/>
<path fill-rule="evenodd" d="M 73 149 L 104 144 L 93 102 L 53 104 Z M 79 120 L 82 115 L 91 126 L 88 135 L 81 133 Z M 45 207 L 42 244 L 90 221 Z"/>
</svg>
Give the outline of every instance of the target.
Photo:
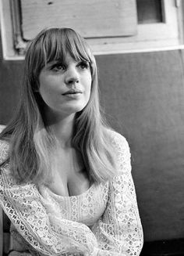
<svg viewBox="0 0 184 256">
<path fill-rule="evenodd" d="M 52 222 L 36 186 L 16 183 L 9 164 L 0 173 L 0 205 L 30 249 L 39 255 L 97 254 L 96 237 L 87 225 L 62 216 Z"/>
</svg>

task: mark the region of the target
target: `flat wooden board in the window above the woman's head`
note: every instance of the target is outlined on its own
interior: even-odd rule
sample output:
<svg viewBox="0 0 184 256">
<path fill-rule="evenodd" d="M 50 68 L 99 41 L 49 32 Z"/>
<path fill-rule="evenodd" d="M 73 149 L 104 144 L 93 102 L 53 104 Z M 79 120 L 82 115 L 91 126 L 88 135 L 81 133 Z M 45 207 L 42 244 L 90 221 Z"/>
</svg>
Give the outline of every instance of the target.
<svg viewBox="0 0 184 256">
<path fill-rule="evenodd" d="M 72 27 L 85 38 L 136 34 L 136 0 L 22 0 L 23 38 L 44 27 Z"/>
</svg>

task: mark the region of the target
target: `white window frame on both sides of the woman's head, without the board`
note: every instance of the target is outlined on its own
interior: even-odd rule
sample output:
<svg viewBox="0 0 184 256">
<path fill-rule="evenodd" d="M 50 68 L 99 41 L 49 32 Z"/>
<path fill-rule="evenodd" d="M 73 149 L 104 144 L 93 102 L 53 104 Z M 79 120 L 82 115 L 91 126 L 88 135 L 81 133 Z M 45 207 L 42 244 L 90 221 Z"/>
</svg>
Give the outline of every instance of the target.
<svg viewBox="0 0 184 256">
<path fill-rule="evenodd" d="M 181 1 L 162 0 L 162 4 L 165 23 L 138 24 L 137 34 L 131 37 L 87 39 L 94 55 L 184 49 Z M 0 23 L 4 59 L 24 59 L 13 48 L 9 0 L 0 0 Z"/>
</svg>

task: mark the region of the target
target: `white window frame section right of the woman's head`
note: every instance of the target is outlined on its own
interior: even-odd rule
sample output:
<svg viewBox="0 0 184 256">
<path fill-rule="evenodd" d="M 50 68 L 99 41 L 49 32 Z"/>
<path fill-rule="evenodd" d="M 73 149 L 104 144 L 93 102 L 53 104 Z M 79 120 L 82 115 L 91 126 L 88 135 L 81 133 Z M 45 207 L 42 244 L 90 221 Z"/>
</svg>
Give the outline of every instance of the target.
<svg viewBox="0 0 184 256">
<path fill-rule="evenodd" d="M 161 49 L 183 49 L 182 3 L 162 0 L 165 23 L 138 24 L 137 34 L 127 38 L 89 40 L 97 54 L 150 52 Z"/>
</svg>

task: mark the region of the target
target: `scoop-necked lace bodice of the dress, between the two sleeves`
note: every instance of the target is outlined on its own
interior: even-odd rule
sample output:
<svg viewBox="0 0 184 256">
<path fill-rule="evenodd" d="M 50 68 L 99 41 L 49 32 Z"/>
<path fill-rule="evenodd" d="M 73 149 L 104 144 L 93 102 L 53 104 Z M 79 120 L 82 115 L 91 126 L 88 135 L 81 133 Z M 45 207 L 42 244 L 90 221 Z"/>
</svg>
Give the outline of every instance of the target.
<svg viewBox="0 0 184 256">
<path fill-rule="evenodd" d="M 50 218 L 63 216 L 73 222 L 91 226 L 104 212 L 108 200 L 108 182 L 104 185 L 94 183 L 86 192 L 72 197 L 62 197 L 46 186 L 39 188 L 42 204 Z M 59 218 L 59 217 L 58 217 Z"/>
</svg>

